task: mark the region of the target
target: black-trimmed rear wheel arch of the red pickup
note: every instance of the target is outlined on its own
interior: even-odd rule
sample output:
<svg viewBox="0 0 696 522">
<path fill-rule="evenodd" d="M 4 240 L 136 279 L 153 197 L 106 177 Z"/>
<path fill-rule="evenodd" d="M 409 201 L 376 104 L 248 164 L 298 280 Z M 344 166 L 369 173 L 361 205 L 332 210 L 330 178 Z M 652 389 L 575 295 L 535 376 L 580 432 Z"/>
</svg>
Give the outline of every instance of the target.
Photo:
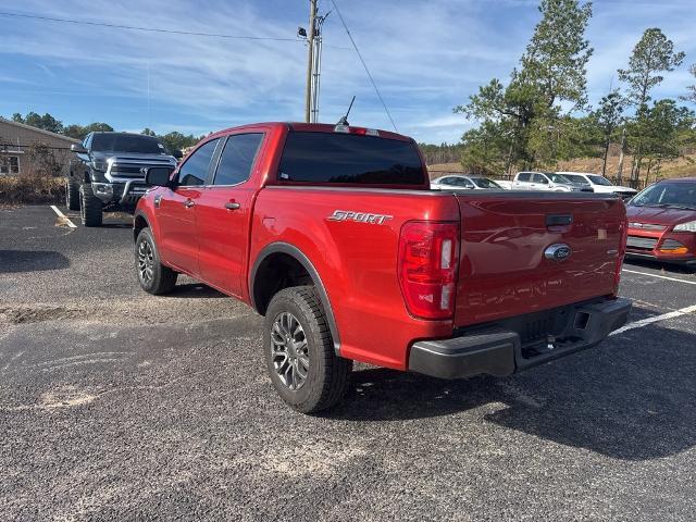
<svg viewBox="0 0 696 522">
<path fill-rule="evenodd" d="M 322 307 L 324 308 L 324 312 L 326 313 L 326 321 L 328 322 L 328 330 L 331 331 L 331 336 L 334 343 L 334 350 L 336 355 L 339 355 L 340 350 L 340 337 L 338 334 L 338 328 L 336 326 L 336 320 L 334 318 L 334 311 L 331 306 L 331 301 L 328 299 L 328 294 L 326 293 L 326 288 L 324 283 L 319 275 L 318 270 L 314 268 L 314 264 L 310 261 L 310 259 L 296 246 L 290 245 L 289 243 L 272 243 L 271 245 L 266 245 L 257 256 L 256 261 L 253 262 L 252 269 L 249 272 L 249 300 L 251 301 L 251 307 L 261 315 L 265 314 L 269 302 L 273 298 L 273 296 L 282 290 L 283 288 L 287 288 L 293 285 L 285 285 L 277 288 L 275 291 L 264 291 L 264 286 L 262 286 L 264 281 L 264 275 L 272 274 L 274 261 L 278 261 L 281 259 L 284 260 L 293 260 L 298 263 L 307 275 L 312 279 L 312 284 L 316 289 L 316 294 L 322 302 Z M 268 287 L 265 287 L 268 289 Z"/>
</svg>

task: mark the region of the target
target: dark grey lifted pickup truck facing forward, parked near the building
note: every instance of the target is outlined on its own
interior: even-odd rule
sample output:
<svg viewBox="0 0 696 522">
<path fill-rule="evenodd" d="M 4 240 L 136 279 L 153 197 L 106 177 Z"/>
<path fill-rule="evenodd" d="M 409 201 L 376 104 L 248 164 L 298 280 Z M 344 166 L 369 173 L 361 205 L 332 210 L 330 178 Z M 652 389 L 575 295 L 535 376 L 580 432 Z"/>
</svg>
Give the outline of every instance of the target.
<svg viewBox="0 0 696 522">
<path fill-rule="evenodd" d="M 145 172 L 150 166 L 176 165 L 182 154 L 166 152 L 154 137 L 129 133 L 90 133 L 71 147 L 65 179 L 65 206 L 79 210 L 85 226 L 101 226 L 104 211 L 132 211 L 149 188 Z"/>
</svg>

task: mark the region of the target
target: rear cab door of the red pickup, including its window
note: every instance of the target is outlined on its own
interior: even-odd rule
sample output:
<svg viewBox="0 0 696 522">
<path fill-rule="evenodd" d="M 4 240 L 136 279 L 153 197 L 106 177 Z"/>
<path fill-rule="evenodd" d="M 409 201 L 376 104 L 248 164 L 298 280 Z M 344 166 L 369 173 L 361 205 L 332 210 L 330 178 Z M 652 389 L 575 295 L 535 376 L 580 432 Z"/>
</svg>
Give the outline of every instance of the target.
<svg viewBox="0 0 696 522">
<path fill-rule="evenodd" d="M 263 133 L 233 134 L 221 144 L 212 182 L 197 201 L 201 279 L 241 297 Z"/>
</svg>

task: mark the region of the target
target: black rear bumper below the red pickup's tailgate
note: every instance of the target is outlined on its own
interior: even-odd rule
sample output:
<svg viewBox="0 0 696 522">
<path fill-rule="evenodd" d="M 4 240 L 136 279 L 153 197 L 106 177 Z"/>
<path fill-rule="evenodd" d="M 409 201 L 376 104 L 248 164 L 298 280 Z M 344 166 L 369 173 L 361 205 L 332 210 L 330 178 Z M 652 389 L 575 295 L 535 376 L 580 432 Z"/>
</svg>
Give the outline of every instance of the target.
<svg viewBox="0 0 696 522">
<path fill-rule="evenodd" d="M 546 339 L 523 344 L 520 331 L 492 327 L 444 340 L 420 340 L 411 347 L 409 370 L 443 378 L 480 374 L 510 375 L 552 359 L 592 348 L 623 326 L 627 299 L 604 299 L 559 309 L 563 324 Z M 517 324 L 514 321 L 510 324 Z"/>
</svg>

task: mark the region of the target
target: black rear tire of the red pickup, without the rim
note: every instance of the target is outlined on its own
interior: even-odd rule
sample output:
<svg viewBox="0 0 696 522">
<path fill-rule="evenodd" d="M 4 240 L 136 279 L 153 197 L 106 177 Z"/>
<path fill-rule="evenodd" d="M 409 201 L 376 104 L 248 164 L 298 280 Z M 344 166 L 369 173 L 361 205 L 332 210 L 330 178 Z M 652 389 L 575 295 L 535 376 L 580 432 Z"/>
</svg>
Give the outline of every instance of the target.
<svg viewBox="0 0 696 522">
<path fill-rule="evenodd" d="M 272 340 L 272 332 L 276 321 L 286 312 L 299 322 L 303 331 L 301 334 L 307 340 L 304 349 L 309 358 L 309 369 L 303 383 L 297 389 L 291 389 L 283 382 L 274 363 L 274 357 L 278 352 L 277 343 Z M 326 314 L 312 286 L 285 288 L 273 297 L 265 313 L 263 353 L 276 391 L 285 402 L 301 413 L 315 413 L 331 408 L 348 389 L 352 361 L 336 356 Z"/>
</svg>

